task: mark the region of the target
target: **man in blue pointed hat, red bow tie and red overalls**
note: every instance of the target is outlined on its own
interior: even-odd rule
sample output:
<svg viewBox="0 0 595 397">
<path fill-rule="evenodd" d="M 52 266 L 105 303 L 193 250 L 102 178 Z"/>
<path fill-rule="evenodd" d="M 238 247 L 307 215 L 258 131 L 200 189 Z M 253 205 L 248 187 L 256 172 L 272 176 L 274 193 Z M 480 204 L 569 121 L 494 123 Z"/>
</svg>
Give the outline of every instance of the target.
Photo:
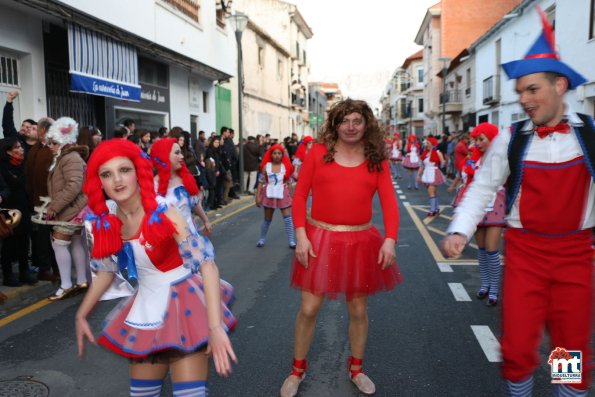
<svg viewBox="0 0 595 397">
<path fill-rule="evenodd" d="M 547 327 L 551 349 L 580 351 L 580 383 L 556 396 L 586 396 L 591 383 L 595 127 L 565 103 L 586 80 L 560 60 L 545 14 L 543 32 L 522 60 L 502 65 L 529 116 L 492 142 L 442 243 L 457 257 L 506 184 L 508 229 L 502 295 L 502 376 L 511 396 L 530 396 Z"/>
</svg>

